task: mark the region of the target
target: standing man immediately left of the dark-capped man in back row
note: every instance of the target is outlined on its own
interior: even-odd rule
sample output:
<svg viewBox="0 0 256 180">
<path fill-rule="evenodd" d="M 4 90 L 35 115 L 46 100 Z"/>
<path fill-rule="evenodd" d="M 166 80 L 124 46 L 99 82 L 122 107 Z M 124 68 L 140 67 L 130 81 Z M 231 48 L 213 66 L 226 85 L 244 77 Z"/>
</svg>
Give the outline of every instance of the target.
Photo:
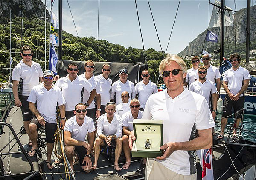
<svg viewBox="0 0 256 180">
<path fill-rule="evenodd" d="M 95 76 L 95 79 L 99 80 L 99 90 L 100 90 L 100 114 L 105 114 L 105 107 L 108 102 L 110 102 L 110 89 L 112 80 L 108 77 L 111 73 L 111 66 L 109 64 L 102 65 L 102 74 Z"/>
</svg>

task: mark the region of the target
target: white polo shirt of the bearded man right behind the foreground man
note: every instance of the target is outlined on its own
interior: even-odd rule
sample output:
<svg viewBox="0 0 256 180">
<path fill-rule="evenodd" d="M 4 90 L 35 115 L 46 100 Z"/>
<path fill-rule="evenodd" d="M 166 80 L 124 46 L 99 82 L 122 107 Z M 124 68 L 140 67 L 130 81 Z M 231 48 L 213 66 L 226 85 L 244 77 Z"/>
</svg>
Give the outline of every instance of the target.
<svg viewBox="0 0 256 180">
<path fill-rule="evenodd" d="M 203 84 L 199 80 L 196 80 L 194 83 L 190 85 L 189 91 L 192 91 L 204 96 L 206 102 L 208 103 L 208 106 L 209 106 L 210 94 L 217 92 L 215 84 L 212 81 L 207 79 L 206 81 L 204 81 Z"/>
</svg>

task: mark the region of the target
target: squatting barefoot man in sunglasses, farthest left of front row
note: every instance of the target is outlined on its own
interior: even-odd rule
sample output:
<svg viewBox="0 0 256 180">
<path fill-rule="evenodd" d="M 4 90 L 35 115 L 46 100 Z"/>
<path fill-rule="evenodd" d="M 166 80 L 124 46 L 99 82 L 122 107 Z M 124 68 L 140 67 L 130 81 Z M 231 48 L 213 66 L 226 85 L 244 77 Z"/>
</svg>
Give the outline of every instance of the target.
<svg viewBox="0 0 256 180">
<path fill-rule="evenodd" d="M 71 169 L 74 169 L 72 159 L 75 151 L 79 155 L 81 168 L 85 172 L 90 172 L 92 161 L 90 152 L 94 143 L 94 123 L 93 119 L 86 116 L 85 105 L 79 103 L 75 106 L 75 116 L 67 120 L 64 127 L 65 154 L 70 163 Z M 88 133 L 88 143 L 85 138 Z"/>
</svg>

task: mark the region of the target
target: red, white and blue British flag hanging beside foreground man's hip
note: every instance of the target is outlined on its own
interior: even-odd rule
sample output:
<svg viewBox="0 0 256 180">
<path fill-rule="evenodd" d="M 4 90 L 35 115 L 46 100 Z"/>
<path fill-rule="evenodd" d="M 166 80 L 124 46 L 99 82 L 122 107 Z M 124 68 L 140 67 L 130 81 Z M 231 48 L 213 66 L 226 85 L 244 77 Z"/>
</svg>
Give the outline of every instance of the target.
<svg viewBox="0 0 256 180">
<path fill-rule="evenodd" d="M 213 180 L 212 150 L 202 149 L 200 164 L 203 168 L 202 180 Z"/>
</svg>

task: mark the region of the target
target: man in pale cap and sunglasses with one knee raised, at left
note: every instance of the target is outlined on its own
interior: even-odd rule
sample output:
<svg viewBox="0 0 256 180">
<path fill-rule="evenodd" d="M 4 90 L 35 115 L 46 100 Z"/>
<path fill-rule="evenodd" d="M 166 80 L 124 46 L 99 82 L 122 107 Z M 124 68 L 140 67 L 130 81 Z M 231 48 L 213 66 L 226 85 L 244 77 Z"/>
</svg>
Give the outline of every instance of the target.
<svg viewBox="0 0 256 180">
<path fill-rule="evenodd" d="M 29 157 L 34 157 L 36 152 L 39 151 L 37 147 L 38 129 L 45 126 L 45 142 L 47 142 L 47 167 L 52 169 L 51 155 L 54 147 L 54 134 L 57 129 L 56 123 L 56 106 L 59 106 L 61 114 L 60 126 L 65 126 L 65 99 L 61 89 L 52 84 L 53 72 L 50 70 L 44 71 L 43 83 L 34 86 L 29 94 L 28 102 L 29 109 L 34 114 L 30 124 L 30 139 L 33 146 L 29 151 Z M 37 106 L 35 106 L 35 103 Z"/>
</svg>

